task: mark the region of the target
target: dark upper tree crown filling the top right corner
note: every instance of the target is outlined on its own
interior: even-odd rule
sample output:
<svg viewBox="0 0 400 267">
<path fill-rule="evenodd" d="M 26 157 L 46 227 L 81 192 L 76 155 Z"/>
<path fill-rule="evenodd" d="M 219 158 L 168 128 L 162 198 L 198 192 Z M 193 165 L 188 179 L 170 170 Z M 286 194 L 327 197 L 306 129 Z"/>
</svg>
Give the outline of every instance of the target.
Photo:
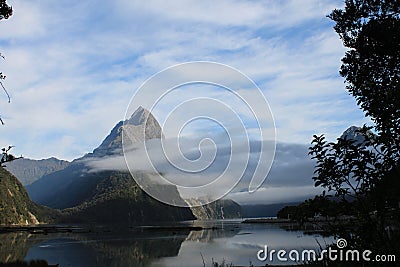
<svg viewBox="0 0 400 267">
<path fill-rule="evenodd" d="M 330 15 L 345 47 L 340 74 L 376 123 L 381 142 L 400 146 L 400 1 L 347 0 Z"/>
</svg>

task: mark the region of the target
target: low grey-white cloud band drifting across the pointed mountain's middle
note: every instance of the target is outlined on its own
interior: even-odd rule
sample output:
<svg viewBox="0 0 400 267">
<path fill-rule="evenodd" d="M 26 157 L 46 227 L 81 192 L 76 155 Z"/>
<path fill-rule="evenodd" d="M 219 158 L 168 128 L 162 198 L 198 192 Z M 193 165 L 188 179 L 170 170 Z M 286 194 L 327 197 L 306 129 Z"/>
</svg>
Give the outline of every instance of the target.
<svg viewBox="0 0 400 267">
<path fill-rule="evenodd" d="M 164 141 L 164 145 L 168 146 L 173 145 L 174 140 Z M 91 171 L 127 171 L 126 159 L 128 163 L 130 162 L 129 167 L 133 172 L 161 173 L 165 181 L 182 187 L 191 187 L 192 189 L 179 189 L 184 197 L 210 197 L 210 194 L 212 197 L 224 195 L 230 191 L 235 181 L 239 183 L 227 197 L 241 203 L 298 201 L 321 193 L 321 189 L 315 188 L 313 185 L 314 162 L 308 155 L 307 146 L 304 145 L 278 143 L 274 163 L 264 183 L 255 193 L 249 193 L 249 181 L 253 177 L 255 167 L 257 164 L 265 164 L 265 162 L 259 163 L 258 161 L 259 142 L 251 141 L 250 150 L 248 150 L 249 147 L 245 142 L 239 143 L 236 145 L 235 153 L 231 155 L 230 149 L 226 147 L 223 140 L 214 139 L 216 147 L 211 145 L 199 148 L 197 146 L 198 140 L 183 138 L 180 140 L 181 149 L 186 158 L 197 160 L 188 164 L 180 151 L 169 150 L 168 160 L 174 165 L 167 161 L 165 151 L 159 147 L 158 142 L 158 140 L 148 141 L 146 149 L 137 145 L 134 150 L 126 153 L 126 158 L 121 154 L 103 158 L 89 158 L 86 164 Z M 199 149 L 202 154 L 199 153 Z M 218 149 L 216 157 L 210 160 L 206 155 L 212 155 L 208 152 L 215 149 Z M 200 155 L 202 156 L 200 157 Z M 249 159 L 248 163 L 246 163 L 247 159 Z M 229 160 L 230 165 L 228 165 Z M 203 170 L 201 166 L 209 167 Z M 191 171 L 182 171 L 182 168 Z M 194 171 L 195 169 L 199 171 Z M 204 191 L 204 188 L 199 187 L 214 181 L 222 174 L 229 178 L 224 178 L 225 180 L 217 183 L 213 187 L 213 192 Z M 163 179 L 157 178 L 156 175 L 152 177 L 156 184 L 163 182 Z M 155 193 L 157 194 L 157 192 Z"/>
</svg>

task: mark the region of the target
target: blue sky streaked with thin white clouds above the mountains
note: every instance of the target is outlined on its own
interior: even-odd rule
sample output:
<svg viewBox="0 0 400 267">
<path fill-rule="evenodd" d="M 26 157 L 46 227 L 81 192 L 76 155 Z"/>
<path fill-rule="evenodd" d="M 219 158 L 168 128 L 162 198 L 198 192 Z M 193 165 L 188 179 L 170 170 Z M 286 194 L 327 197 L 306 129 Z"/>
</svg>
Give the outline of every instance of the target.
<svg viewBox="0 0 400 267">
<path fill-rule="evenodd" d="M 231 66 L 261 90 L 279 144 L 271 181 L 280 173 L 292 177 L 304 170 L 309 179 L 307 147 L 313 134 L 335 140 L 349 126 L 369 123 L 338 74 L 345 48 L 326 15 L 342 7 L 342 1 L 7 3 L 14 14 L 0 21 L 5 56 L 0 70 L 7 75 L 4 85 L 11 103 L 0 94 L 5 122 L 0 146 L 15 145 L 15 155 L 72 160 L 91 152 L 125 118 L 133 95 L 147 79 L 190 61 Z M 229 98 L 211 87 L 187 89 L 179 97 L 202 93 Z M 165 102 L 156 118 L 162 120 L 165 107 L 176 105 L 171 103 Z M 199 130 L 185 129 L 188 135 Z M 301 157 L 294 156 L 299 151 Z M 298 168 L 288 170 L 289 161 Z M 311 180 L 291 181 L 296 187 L 286 190 L 289 195 L 312 188 Z M 260 194 L 271 186 L 262 187 Z M 275 199 L 282 196 L 278 189 L 267 195 L 274 194 Z M 243 201 L 248 197 L 237 196 Z"/>
</svg>

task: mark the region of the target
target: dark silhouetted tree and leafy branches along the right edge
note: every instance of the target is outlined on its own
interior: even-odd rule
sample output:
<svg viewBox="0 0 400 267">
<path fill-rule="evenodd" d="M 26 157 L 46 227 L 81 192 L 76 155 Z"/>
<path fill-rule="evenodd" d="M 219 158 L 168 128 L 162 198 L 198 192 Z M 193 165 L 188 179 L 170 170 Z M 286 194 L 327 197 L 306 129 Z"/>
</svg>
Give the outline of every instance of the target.
<svg viewBox="0 0 400 267">
<path fill-rule="evenodd" d="M 337 234 L 364 249 L 398 251 L 391 229 L 400 227 L 400 1 L 346 0 L 328 17 L 348 48 L 340 75 L 374 126 L 359 129 L 363 142 L 314 136 L 315 186 L 357 211 L 357 227 Z"/>
</svg>

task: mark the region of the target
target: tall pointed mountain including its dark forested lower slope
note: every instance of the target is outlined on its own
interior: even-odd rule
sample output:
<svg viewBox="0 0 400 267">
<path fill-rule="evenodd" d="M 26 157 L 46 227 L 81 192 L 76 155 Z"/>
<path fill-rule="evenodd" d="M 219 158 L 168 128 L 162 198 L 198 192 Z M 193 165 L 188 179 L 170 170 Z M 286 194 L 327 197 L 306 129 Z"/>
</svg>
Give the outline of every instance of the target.
<svg viewBox="0 0 400 267">
<path fill-rule="evenodd" d="M 28 185 L 32 200 L 66 209 L 64 221 L 132 223 L 195 219 L 189 208 L 167 206 L 147 196 L 128 171 L 95 171 L 87 166 L 88 161 L 96 158 L 122 155 L 122 132 L 133 141 L 162 138 L 157 120 L 139 107 L 128 120 L 117 123 L 92 153 Z M 144 180 L 151 179 L 151 174 L 138 175 Z M 166 193 L 174 202 L 183 203 L 175 186 L 159 187 L 157 190 Z"/>
</svg>

